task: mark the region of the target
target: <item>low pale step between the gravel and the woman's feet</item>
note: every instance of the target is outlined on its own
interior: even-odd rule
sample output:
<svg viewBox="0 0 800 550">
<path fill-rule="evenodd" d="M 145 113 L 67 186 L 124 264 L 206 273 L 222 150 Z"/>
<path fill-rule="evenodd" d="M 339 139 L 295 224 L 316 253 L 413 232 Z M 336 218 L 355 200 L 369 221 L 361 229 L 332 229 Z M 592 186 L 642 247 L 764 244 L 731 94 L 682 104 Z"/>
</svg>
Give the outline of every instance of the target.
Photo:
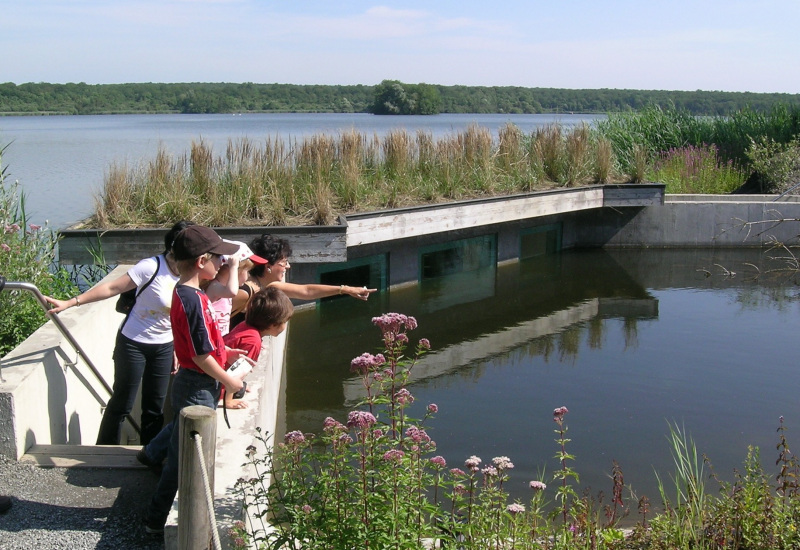
<svg viewBox="0 0 800 550">
<path fill-rule="evenodd" d="M 43 468 L 144 469 L 140 445 L 34 445 L 19 461 Z"/>
</svg>

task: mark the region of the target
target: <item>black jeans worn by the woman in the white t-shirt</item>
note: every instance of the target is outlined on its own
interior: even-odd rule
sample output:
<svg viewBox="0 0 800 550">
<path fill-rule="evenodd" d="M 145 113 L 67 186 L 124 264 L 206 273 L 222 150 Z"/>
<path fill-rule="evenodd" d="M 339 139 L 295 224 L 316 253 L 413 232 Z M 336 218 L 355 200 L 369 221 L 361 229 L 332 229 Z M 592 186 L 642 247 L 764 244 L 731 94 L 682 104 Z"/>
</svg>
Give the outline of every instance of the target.
<svg viewBox="0 0 800 550">
<path fill-rule="evenodd" d="M 108 401 L 97 434 L 98 445 L 119 445 L 125 416 L 130 414 L 142 384 L 141 443 L 146 445 L 164 424 L 173 361 L 172 342 L 142 344 L 117 333 L 114 347 L 114 394 Z"/>
</svg>

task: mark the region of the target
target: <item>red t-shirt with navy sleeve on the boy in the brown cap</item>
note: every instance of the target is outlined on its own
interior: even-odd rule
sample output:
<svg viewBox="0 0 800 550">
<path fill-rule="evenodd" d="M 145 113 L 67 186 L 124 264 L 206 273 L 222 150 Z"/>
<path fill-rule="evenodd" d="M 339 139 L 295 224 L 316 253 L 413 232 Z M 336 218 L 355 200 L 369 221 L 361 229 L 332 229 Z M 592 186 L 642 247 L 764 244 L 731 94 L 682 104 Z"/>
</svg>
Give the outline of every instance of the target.
<svg viewBox="0 0 800 550">
<path fill-rule="evenodd" d="M 203 372 L 193 358 L 207 353 L 223 369 L 227 368 L 225 343 L 205 292 L 191 286 L 175 285 L 169 317 L 175 355 L 182 369 Z"/>
</svg>

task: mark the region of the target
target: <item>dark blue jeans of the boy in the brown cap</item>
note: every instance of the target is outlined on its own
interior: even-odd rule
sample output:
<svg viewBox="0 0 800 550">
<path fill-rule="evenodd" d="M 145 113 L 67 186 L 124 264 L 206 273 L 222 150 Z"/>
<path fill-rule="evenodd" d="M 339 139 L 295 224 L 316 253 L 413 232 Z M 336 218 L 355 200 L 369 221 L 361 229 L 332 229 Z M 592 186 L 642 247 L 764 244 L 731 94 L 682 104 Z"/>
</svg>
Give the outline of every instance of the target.
<svg viewBox="0 0 800 550">
<path fill-rule="evenodd" d="M 178 492 L 178 453 L 180 450 L 178 422 L 181 410 L 190 405 L 202 405 L 216 409 L 219 394 L 219 383 L 207 374 L 180 369 L 175 375 L 175 380 L 172 381 L 171 397 L 175 417 L 172 419 L 169 451 L 161 472 L 161 479 L 158 480 L 156 492 L 147 509 L 145 519 L 148 525 L 161 526 L 166 523 L 170 508 L 172 508 L 172 501 L 175 500 Z"/>
</svg>

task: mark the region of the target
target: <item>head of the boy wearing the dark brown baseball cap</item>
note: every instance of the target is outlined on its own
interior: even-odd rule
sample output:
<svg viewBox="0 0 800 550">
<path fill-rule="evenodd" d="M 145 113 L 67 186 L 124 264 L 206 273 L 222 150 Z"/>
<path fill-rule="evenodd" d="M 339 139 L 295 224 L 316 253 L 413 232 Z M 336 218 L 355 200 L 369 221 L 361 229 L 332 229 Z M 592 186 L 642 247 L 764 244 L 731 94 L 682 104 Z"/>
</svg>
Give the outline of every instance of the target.
<svg viewBox="0 0 800 550">
<path fill-rule="evenodd" d="M 238 250 L 237 245 L 223 241 L 216 231 L 202 225 L 185 228 L 172 244 L 181 276 L 199 272 L 202 279 L 213 279 L 222 265 L 221 257 Z"/>
</svg>

